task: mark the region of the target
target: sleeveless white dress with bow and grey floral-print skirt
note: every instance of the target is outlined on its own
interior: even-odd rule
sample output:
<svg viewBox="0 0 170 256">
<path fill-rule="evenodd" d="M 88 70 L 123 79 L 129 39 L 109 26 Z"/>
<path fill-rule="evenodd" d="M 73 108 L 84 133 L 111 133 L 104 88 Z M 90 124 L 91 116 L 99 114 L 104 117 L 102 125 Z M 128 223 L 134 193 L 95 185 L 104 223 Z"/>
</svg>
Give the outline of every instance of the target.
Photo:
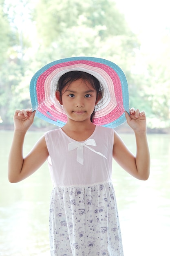
<svg viewBox="0 0 170 256">
<path fill-rule="evenodd" d="M 111 182 L 114 130 L 96 126 L 79 142 L 59 128 L 45 140 L 53 182 L 51 256 L 123 256 Z"/>
</svg>

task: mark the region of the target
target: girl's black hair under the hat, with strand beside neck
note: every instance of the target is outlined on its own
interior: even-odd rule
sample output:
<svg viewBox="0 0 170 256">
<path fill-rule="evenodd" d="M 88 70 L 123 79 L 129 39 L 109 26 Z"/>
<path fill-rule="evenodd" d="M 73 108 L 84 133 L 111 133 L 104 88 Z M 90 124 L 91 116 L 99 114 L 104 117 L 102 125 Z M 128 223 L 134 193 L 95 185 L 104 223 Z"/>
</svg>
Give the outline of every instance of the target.
<svg viewBox="0 0 170 256">
<path fill-rule="evenodd" d="M 73 81 L 76 81 L 79 79 L 82 79 L 90 83 L 97 92 L 96 99 L 97 98 L 102 99 L 102 85 L 99 83 L 99 80 L 95 78 L 95 76 L 89 73 L 86 73 L 83 71 L 77 71 L 77 70 L 69 71 L 63 74 L 58 80 L 56 91 L 60 92 L 60 99 L 62 99 L 62 90 L 65 88 L 65 86 L 66 85 L 69 86 Z M 95 105 L 95 109 L 96 109 L 96 105 Z M 95 116 L 95 109 L 91 114 L 92 123 Z"/>
</svg>

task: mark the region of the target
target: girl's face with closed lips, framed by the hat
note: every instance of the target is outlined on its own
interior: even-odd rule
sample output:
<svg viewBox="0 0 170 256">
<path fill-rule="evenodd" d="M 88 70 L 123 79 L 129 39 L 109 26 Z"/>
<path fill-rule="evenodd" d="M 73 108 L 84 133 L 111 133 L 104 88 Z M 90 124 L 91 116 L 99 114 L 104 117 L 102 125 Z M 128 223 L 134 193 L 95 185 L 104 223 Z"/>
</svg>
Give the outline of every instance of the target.
<svg viewBox="0 0 170 256">
<path fill-rule="evenodd" d="M 56 98 L 63 105 L 63 109 L 68 119 L 74 121 L 90 120 L 95 105 L 99 101 L 97 92 L 93 86 L 82 79 L 73 81 L 62 90 L 62 100 L 60 92 L 56 92 Z"/>
</svg>

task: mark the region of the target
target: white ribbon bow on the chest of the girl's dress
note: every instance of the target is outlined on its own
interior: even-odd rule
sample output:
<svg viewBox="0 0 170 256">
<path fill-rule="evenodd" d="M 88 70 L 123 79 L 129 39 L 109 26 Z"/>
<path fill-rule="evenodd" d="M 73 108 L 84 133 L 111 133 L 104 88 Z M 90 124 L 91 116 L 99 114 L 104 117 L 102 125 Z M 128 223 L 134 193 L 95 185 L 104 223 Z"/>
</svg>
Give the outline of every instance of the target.
<svg viewBox="0 0 170 256">
<path fill-rule="evenodd" d="M 100 152 L 95 151 L 93 148 L 89 147 L 88 145 L 96 147 L 95 140 L 94 139 L 88 139 L 84 143 L 79 142 L 79 141 L 75 141 L 75 142 L 71 142 L 71 143 L 68 144 L 68 150 L 73 150 L 73 149 L 77 148 L 77 162 L 79 162 L 82 165 L 83 165 L 83 162 L 84 162 L 84 157 L 83 157 L 83 148 L 84 147 L 90 149 L 91 151 L 95 152 L 98 155 L 101 155 L 102 157 L 105 157 L 105 155 L 103 155 Z"/>
</svg>

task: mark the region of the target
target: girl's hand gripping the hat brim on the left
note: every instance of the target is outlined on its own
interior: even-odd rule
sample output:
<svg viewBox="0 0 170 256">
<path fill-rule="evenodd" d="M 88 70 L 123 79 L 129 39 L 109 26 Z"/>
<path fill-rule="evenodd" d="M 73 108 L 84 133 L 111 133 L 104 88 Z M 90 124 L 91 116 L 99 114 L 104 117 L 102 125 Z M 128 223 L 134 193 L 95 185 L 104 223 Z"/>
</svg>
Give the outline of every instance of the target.
<svg viewBox="0 0 170 256">
<path fill-rule="evenodd" d="M 15 110 L 15 114 L 13 116 L 15 130 L 26 132 L 33 124 L 35 112 L 36 111 L 32 111 L 31 108 Z"/>
</svg>

